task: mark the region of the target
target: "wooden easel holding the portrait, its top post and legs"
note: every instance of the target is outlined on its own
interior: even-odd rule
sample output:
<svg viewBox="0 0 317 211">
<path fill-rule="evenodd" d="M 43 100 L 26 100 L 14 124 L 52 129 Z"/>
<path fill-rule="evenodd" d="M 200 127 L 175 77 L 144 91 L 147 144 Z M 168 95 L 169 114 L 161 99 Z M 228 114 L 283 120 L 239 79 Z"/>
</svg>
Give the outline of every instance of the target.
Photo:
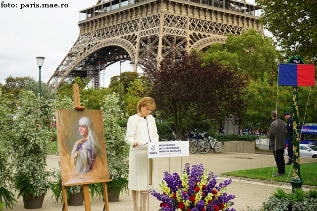
<svg viewBox="0 0 317 211">
<path fill-rule="evenodd" d="M 84 110 L 84 109 L 86 109 L 85 106 L 80 106 L 78 84 L 74 84 L 73 85 L 73 89 L 74 89 L 74 100 L 75 100 L 75 108 L 74 109 L 76 109 L 76 110 Z M 112 181 L 112 180 L 109 179 L 106 182 L 110 182 L 110 181 Z M 104 199 L 105 199 L 104 211 L 109 211 L 108 191 L 107 191 L 106 182 L 103 182 Z M 84 192 L 85 211 L 91 211 L 89 186 L 88 186 L 88 184 L 82 184 L 82 185 L 83 185 L 83 192 Z M 64 205 L 63 205 L 62 211 L 68 211 L 66 185 L 62 185 L 61 190 L 62 190 L 63 201 L 64 201 Z"/>
</svg>

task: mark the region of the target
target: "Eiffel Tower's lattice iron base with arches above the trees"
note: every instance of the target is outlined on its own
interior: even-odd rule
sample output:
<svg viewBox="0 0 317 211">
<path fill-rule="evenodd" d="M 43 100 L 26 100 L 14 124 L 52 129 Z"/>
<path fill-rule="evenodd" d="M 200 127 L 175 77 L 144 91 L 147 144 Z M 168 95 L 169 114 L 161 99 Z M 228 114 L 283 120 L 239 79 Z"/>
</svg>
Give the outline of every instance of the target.
<svg viewBox="0 0 317 211">
<path fill-rule="evenodd" d="M 121 60 L 179 58 L 193 49 L 225 43 L 254 28 L 264 34 L 260 8 L 239 0 L 98 0 L 79 11 L 80 34 L 54 71 L 54 88 L 90 75 L 99 87 L 103 68 Z M 121 56 L 121 57 L 120 57 Z"/>
</svg>

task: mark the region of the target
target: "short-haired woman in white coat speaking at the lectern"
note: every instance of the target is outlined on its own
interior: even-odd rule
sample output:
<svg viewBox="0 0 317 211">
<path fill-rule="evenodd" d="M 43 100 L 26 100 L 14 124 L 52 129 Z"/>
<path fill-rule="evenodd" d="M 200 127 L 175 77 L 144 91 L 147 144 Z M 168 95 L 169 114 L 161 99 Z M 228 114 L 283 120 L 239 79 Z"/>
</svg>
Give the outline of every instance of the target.
<svg viewBox="0 0 317 211">
<path fill-rule="evenodd" d="M 150 114 L 156 108 L 155 102 L 150 97 L 141 99 L 136 113 L 129 117 L 125 141 L 130 146 L 130 151 L 149 142 L 158 142 L 159 135 L 155 118 Z M 129 154 L 129 184 L 132 192 L 133 211 L 138 211 L 138 196 L 140 193 L 140 210 L 146 211 L 148 184 L 153 188 L 158 187 L 158 176 L 155 159 L 149 159 L 148 182 L 147 153 L 136 158 L 135 153 Z"/>
</svg>

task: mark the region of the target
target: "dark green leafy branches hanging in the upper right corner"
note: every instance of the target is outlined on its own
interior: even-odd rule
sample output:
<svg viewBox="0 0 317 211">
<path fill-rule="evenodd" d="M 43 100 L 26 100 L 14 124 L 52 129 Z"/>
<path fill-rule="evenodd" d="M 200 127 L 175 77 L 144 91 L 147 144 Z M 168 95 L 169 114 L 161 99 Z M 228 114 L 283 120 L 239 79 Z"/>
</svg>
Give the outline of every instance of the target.
<svg viewBox="0 0 317 211">
<path fill-rule="evenodd" d="M 256 0 L 262 21 L 287 57 L 300 55 L 317 64 L 316 1 Z"/>
</svg>

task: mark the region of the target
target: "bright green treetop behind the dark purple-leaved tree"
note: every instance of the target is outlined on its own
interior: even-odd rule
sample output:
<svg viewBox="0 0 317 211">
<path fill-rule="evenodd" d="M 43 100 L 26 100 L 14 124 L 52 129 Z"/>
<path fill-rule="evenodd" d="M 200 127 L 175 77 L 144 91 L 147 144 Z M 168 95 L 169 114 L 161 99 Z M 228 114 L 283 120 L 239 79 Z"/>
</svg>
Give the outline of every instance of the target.
<svg viewBox="0 0 317 211">
<path fill-rule="evenodd" d="M 224 48 L 221 44 L 212 44 L 204 61 L 228 65 L 239 74 L 245 73 L 248 79 L 263 79 L 267 73 L 270 81 L 276 81 L 280 56 L 271 38 L 249 29 L 241 36 L 228 34 Z"/>
</svg>

